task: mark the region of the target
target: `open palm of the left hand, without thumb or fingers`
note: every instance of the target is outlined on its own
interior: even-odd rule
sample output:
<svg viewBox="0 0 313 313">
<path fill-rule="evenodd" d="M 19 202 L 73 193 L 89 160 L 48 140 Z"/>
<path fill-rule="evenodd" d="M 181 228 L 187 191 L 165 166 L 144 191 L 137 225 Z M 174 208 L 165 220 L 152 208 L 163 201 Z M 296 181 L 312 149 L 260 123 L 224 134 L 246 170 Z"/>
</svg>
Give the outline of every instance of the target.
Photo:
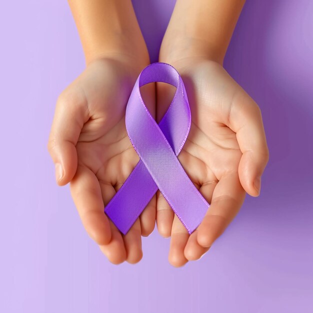
<svg viewBox="0 0 313 313">
<path fill-rule="evenodd" d="M 89 116 L 76 144 L 78 164 L 97 177 L 104 204 L 138 161 L 125 128 L 125 106 L 136 73 L 131 77 L 120 65 L 111 60 L 97 61 L 81 82 Z"/>
</svg>

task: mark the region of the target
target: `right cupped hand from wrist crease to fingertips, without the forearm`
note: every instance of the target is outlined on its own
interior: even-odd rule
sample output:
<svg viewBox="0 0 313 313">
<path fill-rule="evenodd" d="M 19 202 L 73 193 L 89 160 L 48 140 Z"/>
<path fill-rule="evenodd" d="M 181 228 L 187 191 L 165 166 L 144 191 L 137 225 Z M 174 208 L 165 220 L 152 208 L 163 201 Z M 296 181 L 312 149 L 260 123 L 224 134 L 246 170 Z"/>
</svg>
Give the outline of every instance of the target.
<svg viewBox="0 0 313 313">
<path fill-rule="evenodd" d="M 171 236 L 169 262 L 182 266 L 205 253 L 239 211 L 245 191 L 257 196 L 268 161 L 260 109 L 223 67 L 204 57 L 161 59 L 182 76 L 191 128 L 178 159 L 210 207 L 189 235 L 158 192 L 157 228 Z M 170 103 L 171 86 L 157 83 L 157 120 Z"/>
</svg>

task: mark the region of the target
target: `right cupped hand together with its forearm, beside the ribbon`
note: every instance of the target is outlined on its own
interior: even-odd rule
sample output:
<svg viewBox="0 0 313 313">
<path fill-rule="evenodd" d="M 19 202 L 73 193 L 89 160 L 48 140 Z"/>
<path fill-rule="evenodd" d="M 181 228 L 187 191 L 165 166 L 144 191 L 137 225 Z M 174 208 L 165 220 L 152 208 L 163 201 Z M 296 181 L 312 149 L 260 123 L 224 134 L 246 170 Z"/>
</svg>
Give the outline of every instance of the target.
<svg viewBox="0 0 313 313">
<path fill-rule="evenodd" d="M 182 76 L 191 109 L 191 128 L 178 159 L 210 207 L 189 235 L 163 196 L 157 193 L 156 222 L 171 236 L 173 266 L 199 259 L 225 230 L 245 192 L 259 195 L 268 148 L 260 109 L 222 67 L 244 1 L 178 0 L 165 32 L 159 61 Z M 157 119 L 173 88 L 157 83 Z"/>
</svg>

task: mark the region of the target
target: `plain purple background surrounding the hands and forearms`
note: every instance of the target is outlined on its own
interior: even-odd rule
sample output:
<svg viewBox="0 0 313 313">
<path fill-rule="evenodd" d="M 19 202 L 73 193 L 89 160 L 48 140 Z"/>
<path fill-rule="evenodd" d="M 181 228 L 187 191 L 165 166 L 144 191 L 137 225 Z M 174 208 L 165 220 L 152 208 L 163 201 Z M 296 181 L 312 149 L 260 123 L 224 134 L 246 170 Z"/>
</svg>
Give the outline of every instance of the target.
<svg viewBox="0 0 313 313">
<path fill-rule="evenodd" d="M 152 61 L 173 0 L 135 0 Z M 110 264 L 86 235 L 46 141 L 84 67 L 66 1 L 0 2 L 0 312 L 313 311 L 313 2 L 247 1 L 225 67 L 257 101 L 270 150 L 259 198 L 210 251 L 176 269 L 169 241 Z"/>
</svg>

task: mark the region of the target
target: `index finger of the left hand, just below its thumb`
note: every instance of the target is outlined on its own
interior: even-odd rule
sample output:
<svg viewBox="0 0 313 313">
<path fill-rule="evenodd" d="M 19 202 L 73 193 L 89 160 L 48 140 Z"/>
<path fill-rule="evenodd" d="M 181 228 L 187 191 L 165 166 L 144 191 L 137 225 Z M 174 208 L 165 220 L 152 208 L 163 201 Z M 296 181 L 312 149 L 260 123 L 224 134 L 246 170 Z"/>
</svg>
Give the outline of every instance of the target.
<svg viewBox="0 0 313 313">
<path fill-rule="evenodd" d="M 94 173 L 79 165 L 70 182 L 70 191 L 89 236 L 98 244 L 107 244 L 111 231 L 108 218 L 104 214 L 100 185 Z"/>
</svg>

